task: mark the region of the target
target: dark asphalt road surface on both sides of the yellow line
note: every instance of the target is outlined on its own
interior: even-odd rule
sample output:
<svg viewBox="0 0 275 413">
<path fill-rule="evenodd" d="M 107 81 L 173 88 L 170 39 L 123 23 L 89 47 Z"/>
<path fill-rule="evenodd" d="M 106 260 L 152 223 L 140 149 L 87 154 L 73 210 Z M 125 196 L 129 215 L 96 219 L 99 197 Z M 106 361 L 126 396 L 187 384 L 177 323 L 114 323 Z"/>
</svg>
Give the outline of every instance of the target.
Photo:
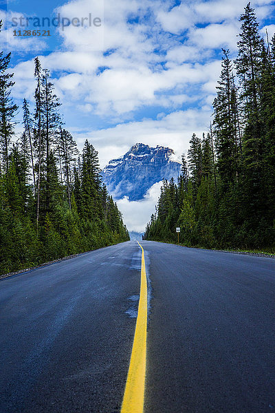
<svg viewBox="0 0 275 413">
<path fill-rule="evenodd" d="M 275 261 L 141 242 L 144 413 L 275 412 Z M 126 242 L 0 282 L 0 412 L 120 412 L 142 251 Z"/>
</svg>

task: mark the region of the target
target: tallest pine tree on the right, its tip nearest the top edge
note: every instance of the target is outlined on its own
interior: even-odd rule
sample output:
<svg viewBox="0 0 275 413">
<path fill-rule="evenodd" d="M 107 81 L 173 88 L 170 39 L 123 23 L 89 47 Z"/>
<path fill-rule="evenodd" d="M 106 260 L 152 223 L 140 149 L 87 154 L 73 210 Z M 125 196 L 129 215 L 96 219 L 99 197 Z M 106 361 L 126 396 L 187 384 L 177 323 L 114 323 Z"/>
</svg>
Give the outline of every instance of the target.
<svg viewBox="0 0 275 413">
<path fill-rule="evenodd" d="M 261 67 L 263 43 L 259 23 L 250 3 L 241 15 L 241 40 L 236 69 L 241 84 L 245 129 L 243 133 L 243 209 L 250 225 L 256 226 L 256 215 L 264 211 L 263 202 L 263 123 L 261 122 Z"/>
</svg>

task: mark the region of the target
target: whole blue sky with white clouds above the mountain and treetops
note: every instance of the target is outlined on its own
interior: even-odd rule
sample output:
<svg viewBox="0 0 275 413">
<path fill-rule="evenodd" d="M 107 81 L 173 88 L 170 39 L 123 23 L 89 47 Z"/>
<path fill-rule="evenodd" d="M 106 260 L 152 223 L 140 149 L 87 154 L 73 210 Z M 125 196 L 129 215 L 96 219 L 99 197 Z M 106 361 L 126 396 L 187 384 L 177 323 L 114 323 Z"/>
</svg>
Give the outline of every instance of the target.
<svg viewBox="0 0 275 413">
<path fill-rule="evenodd" d="M 135 142 L 172 147 L 178 156 L 190 136 L 208 130 L 220 72 L 221 47 L 236 56 L 243 0 L 0 0 L 1 17 L 50 17 L 86 25 L 50 30 L 50 38 L 1 33 L 12 50 L 13 96 L 33 103 L 35 56 L 47 67 L 63 103 L 67 129 L 81 148 L 86 138 L 102 167 Z M 274 1 L 255 0 L 260 28 L 275 32 Z M 19 28 L 17 27 L 17 30 Z M 8 34 L 7 34 L 8 33 Z M 21 125 L 17 125 L 19 132 Z M 155 193 L 155 191 L 153 191 Z M 156 196 L 156 195 L 155 195 Z M 155 201 L 154 201 L 155 202 Z M 153 208 L 153 204 L 149 206 Z M 151 209 L 152 211 L 152 209 Z"/>
</svg>

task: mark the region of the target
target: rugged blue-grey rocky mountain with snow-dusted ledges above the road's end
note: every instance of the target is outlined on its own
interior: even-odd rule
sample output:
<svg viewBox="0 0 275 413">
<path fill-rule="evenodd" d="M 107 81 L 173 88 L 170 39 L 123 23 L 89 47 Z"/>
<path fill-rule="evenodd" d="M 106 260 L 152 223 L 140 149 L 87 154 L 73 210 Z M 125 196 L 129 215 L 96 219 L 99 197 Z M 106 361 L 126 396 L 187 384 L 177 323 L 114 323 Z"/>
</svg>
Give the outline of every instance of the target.
<svg viewBox="0 0 275 413">
<path fill-rule="evenodd" d="M 118 159 L 110 160 L 102 171 L 103 182 L 117 200 L 142 200 L 156 182 L 179 176 L 181 161 L 168 147 L 149 147 L 136 143 Z"/>
</svg>

